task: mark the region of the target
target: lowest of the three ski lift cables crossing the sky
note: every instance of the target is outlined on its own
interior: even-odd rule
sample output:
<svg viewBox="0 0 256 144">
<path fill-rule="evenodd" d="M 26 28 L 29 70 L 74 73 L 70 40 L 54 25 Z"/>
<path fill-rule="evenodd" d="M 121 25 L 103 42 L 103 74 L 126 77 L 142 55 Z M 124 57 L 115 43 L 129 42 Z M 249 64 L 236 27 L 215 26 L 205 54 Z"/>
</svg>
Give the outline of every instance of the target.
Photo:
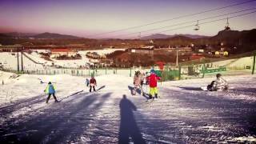
<svg viewBox="0 0 256 144">
<path fill-rule="evenodd" d="M 254 14 L 256 13 L 256 10 L 255 11 L 252 11 L 252 12 L 249 12 L 249 13 L 245 13 L 245 14 L 238 14 L 238 15 L 235 15 L 235 16 L 231 16 L 229 17 L 230 18 L 238 18 L 238 17 L 242 17 L 244 15 L 248 15 L 248 14 Z M 204 25 L 204 24 L 207 24 L 207 23 L 212 23 L 212 22 L 219 22 L 219 21 L 223 21 L 223 20 L 226 20 L 226 18 L 220 18 L 220 19 L 216 19 L 216 20 L 213 20 L 213 21 L 209 21 L 209 22 L 202 22 L 200 23 L 200 25 Z M 182 27 L 178 27 L 178 28 L 175 28 L 175 29 L 170 29 L 170 30 L 162 30 L 160 32 L 158 32 L 158 34 L 161 34 L 163 32 L 167 32 L 167 31 L 172 31 L 172 30 L 180 30 L 180 29 L 184 29 L 184 28 L 188 28 L 188 27 L 192 27 L 194 25 L 190 25 L 190 26 L 182 26 Z M 145 36 L 150 36 L 150 34 L 145 34 L 145 35 L 142 35 L 143 37 Z M 136 37 L 130 37 L 130 38 L 136 38 Z M 126 39 L 130 39 L 130 38 L 126 38 Z"/>
</svg>

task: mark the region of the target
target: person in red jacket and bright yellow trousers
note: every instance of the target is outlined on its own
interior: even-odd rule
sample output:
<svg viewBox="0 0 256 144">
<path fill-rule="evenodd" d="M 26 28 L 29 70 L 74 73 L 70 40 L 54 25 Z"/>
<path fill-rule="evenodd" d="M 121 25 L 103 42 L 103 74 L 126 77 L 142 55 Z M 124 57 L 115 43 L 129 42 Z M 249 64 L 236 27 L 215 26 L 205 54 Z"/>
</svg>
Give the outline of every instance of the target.
<svg viewBox="0 0 256 144">
<path fill-rule="evenodd" d="M 148 81 L 150 82 L 150 99 L 158 98 L 158 80 L 160 80 L 160 77 L 155 74 L 154 70 L 150 70 L 150 73 L 150 76 L 147 77 Z"/>
</svg>

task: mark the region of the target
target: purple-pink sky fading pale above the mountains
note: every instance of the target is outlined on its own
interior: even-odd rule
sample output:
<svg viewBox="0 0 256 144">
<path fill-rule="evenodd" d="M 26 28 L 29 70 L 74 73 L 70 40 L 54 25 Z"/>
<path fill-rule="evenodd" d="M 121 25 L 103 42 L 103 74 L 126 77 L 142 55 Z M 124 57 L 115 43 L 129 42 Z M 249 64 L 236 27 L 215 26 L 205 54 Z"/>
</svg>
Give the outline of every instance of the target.
<svg viewBox="0 0 256 144">
<path fill-rule="evenodd" d="M 211 36 L 224 29 L 227 17 L 256 11 L 248 10 L 256 8 L 256 1 L 186 18 L 178 17 L 246 1 L 249 0 L 1 0 L 0 32 L 50 32 L 84 38 L 139 38 L 150 34 Z M 200 21 L 203 18 L 240 10 L 245 11 Z M 177 19 L 158 22 L 171 18 Z M 217 19 L 223 20 L 200 25 Z M 200 30 L 194 30 L 196 22 L 193 21 L 197 20 Z M 142 26 L 152 22 L 158 23 Z M 180 24 L 184 22 L 191 23 Z M 232 30 L 254 29 L 255 22 L 256 13 L 229 19 Z M 123 30 L 134 26 L 141 27 Z M 119 31 L 108 33 L 116 30 Z"/>
</svg>

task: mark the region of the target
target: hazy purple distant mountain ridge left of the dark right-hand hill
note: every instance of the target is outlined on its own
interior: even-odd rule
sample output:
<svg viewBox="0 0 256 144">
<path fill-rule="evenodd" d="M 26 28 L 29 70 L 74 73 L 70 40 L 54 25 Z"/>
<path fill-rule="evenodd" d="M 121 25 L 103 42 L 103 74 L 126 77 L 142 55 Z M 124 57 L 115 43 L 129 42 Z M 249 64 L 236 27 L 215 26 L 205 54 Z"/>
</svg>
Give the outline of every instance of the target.
<svg viewBox="0 0 256 144">
<path fill-rule="evenodd" d="M 187 38 L 208 38 L 209 36 L 204 35 L 197 35 L 197 34 L 174 34 L 174 35 L 166 35 L 166 34 L 151 34 L 150 36 L 142 37 L 141 39 L 147 40 L 147 39 L 165 39 L 165 38 L 174 38 L 177 36 L 183 36 Z"/>
</svg>

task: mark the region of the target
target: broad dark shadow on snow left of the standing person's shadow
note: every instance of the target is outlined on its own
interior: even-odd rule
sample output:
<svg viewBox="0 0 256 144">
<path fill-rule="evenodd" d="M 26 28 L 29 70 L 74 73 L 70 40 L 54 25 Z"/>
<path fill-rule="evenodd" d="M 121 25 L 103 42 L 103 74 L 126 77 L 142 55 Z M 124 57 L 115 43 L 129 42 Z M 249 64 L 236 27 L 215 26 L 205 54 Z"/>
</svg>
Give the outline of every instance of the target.
<svg viewBox="0 0 256 144">
<path fill-rule="evenodd" d="M 84 97 L 84 98 L 82 98 Z M 75 139 L 86 130 L 90 120 L 94 119 L 94 112 L 106 102 L 108 94 L 78 94 L 68 102 L 49 105 L 41 114 L 31 115 L 28 119 L 1 126 L 1 143 L 56 143 Z M 76 98 L 82 98 L 76 102 Z"/>
</svg>

